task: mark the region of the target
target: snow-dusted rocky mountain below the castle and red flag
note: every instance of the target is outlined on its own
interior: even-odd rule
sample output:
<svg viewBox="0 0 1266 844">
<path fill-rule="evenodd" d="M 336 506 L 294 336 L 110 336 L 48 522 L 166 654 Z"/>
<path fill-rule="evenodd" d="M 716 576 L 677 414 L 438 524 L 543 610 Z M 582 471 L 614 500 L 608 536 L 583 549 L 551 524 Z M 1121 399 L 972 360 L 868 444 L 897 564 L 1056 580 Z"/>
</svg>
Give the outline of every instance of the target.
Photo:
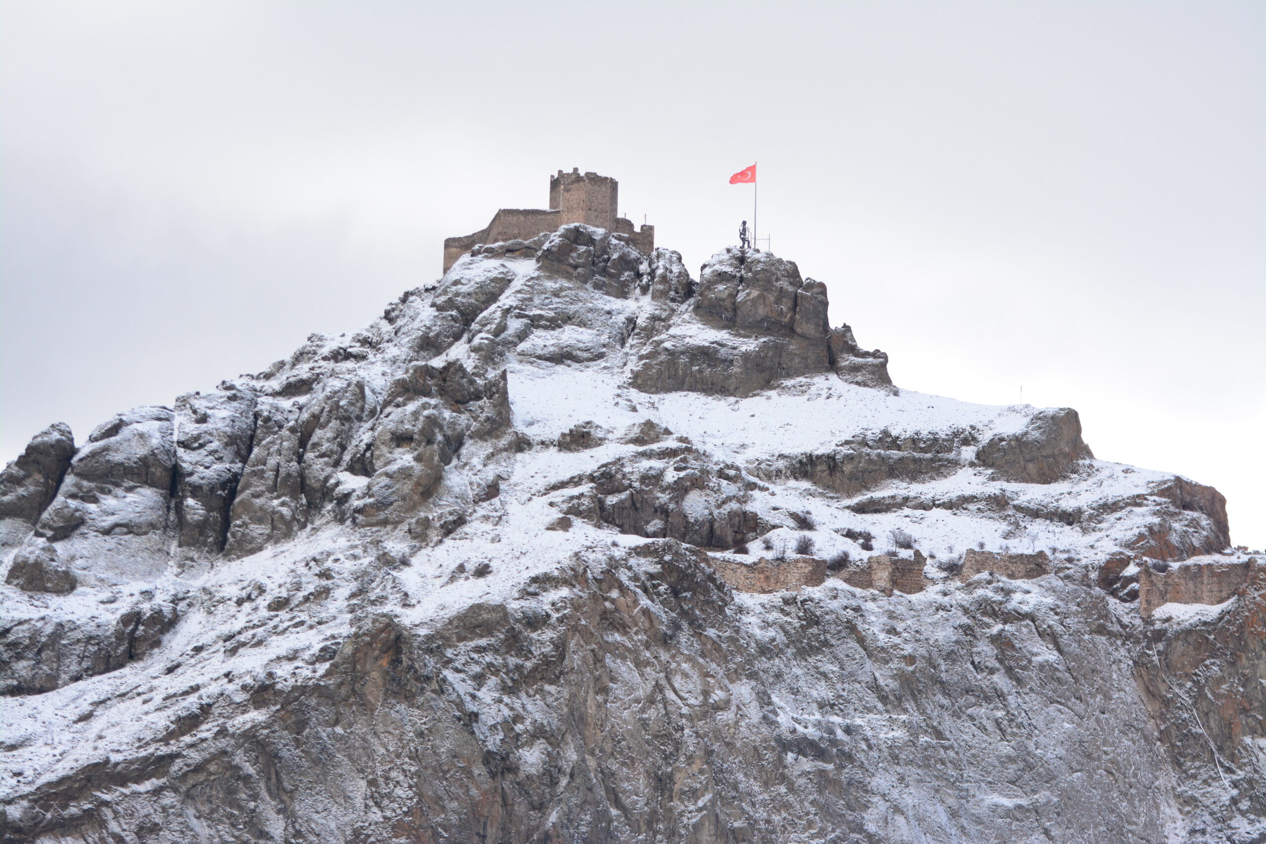
<svg viewBox="0 0 1266 844">
<path fill-rule="evenodd" d="M 1132 600 L 1222 496 L 886 359 L 791 262 L 570 225 L 54 425 L 0 476 L 5 840 L 1266 834 L 1257 574 Z"/>
</svg>

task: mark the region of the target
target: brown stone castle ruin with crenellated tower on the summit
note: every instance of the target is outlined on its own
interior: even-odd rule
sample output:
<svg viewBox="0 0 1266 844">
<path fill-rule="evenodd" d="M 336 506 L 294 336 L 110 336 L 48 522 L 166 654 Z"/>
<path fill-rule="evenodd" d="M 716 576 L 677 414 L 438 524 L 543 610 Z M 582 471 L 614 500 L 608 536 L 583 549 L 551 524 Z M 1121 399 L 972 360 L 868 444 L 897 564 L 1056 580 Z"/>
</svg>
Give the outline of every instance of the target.
<svg viewBox="0 0 1266 844">
<path fill-rule="evenodd" d="M 570 173 L 560 170 L 557 176 L 549 177 L 548 210 L 503 208 L 479 232 L 444 239 L 444 272 L 477 244 L 530 240 L 538 234 L 557 232 L 568 223 L 606 229 L 642 254 L 651 254 L 655 249 L 655 227 L 643 225 L 634 232 L 633 221 L 619 216 L 618 199 L 619 182 L 610 176 L 581 173 L 579 167 L 573 167 Z"/>
</svg>

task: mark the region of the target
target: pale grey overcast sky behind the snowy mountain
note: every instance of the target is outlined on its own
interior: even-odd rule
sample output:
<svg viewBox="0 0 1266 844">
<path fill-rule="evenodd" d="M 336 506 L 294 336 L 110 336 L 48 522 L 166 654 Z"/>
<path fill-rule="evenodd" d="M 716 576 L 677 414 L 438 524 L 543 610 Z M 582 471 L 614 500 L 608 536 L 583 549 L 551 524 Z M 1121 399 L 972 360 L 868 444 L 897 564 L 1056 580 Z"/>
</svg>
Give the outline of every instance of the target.
<svg viewBox="0 0 1266 844">
<path fill-rule="evenodd" d="M 1266 3 L 0 3 L 0 459 L 263 369 L 549 173 L 751 219 L 896 383 L 1072 406 L 1266 545 Z"/>
</svg>

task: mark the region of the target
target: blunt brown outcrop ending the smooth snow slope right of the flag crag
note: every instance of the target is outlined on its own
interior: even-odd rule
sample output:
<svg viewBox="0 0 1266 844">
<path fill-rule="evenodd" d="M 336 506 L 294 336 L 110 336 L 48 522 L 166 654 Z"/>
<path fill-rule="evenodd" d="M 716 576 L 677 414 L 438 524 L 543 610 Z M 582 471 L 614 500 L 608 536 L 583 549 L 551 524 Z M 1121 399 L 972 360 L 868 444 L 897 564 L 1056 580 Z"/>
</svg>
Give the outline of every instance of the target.
<svg viewBox="0 0 1266 844">
<path fill-rule="evenodd" d="M 998 477 L 1022 483 L 1055 483 L 1079 461 L 1091 458 L 1081 442 L 1081 419 L 1071 407 L 1039 410 L 1018 434 L 995 434 L 976 452 Z"/>
</svg>

